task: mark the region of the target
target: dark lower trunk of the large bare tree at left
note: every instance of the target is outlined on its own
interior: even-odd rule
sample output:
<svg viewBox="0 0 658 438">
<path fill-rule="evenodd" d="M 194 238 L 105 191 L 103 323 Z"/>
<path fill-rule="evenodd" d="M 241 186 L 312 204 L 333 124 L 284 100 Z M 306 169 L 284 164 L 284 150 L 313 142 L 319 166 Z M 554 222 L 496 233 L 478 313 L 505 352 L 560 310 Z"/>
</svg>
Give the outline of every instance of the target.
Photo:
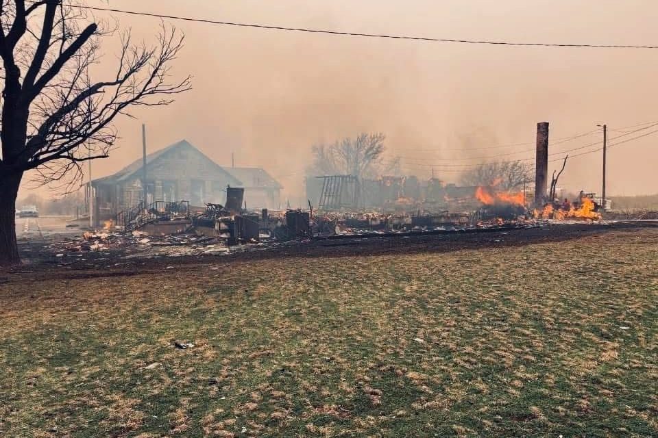
<svg viewBox="0 0 658 438">
<path fill-rule="evenodd" d="M 16 196 L 23 175 L 0 175 L 0 266 L 21 262 L 16 246 Z"/>
</svg>

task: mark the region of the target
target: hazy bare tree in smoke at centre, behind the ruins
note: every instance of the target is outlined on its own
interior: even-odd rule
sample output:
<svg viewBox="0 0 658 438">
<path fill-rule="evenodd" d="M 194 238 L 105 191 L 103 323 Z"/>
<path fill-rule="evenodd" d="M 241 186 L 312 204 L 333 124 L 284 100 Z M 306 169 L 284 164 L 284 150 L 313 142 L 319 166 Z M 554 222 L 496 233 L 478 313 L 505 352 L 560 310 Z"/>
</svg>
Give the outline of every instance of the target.
<svg viewBox="0 0 658 438">
<path fill-rule="evenodd" d="M 313 146 L 313 165 L 310 175 L 354 175 L 374 178 L 398 168 L 399 159 L 385 161 L 383 133 L 360 133 L 356 138 L 344 138 L 332 144 Z"/>
</svg>

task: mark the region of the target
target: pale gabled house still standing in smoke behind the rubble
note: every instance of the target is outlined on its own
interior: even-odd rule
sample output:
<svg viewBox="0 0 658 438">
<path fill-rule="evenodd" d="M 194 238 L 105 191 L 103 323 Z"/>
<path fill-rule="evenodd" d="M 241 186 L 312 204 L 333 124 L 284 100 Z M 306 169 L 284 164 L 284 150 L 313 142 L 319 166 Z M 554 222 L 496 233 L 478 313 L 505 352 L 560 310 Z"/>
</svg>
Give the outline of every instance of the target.
<svg viewBox="0 0 658 438">
<path fill-rule="evenodd" d="M 156 201 L 189 201 L 193 207 L 224 203 L 229 185 L 244 187 L 245 201 L 252 207 L 278 205 L 280 185 L 265 170 L 243 170 L 219 166 L 193 144 L 181 140 L 147 155 L 146 172 L 140 158 L 114 175 L 93 180 L 95 218 L 97 222 L 113 219 L 143 200 L 147 205 Z M 252 175 L 242 181 L 242 177 L 254 173 L 258 177 L 254 179 Z"/>
</svg>

